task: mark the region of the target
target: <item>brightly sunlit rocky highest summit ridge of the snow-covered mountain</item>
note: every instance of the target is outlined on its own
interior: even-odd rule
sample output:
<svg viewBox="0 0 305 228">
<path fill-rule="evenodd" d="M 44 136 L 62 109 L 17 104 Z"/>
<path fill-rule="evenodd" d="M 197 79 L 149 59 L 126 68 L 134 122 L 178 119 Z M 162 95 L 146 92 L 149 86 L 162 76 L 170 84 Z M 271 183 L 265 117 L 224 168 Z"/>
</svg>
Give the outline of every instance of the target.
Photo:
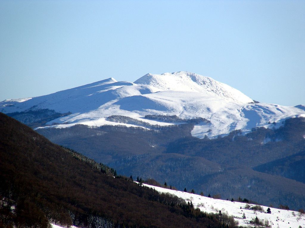
<svg viewBox="0 0 305 228">
<path fill-rule="evenodd" d="M 145 74 L 134 82 L 148 86 L 152 92 L 184 91 L 199 92 L 206 96 L 217 96 L 235 102 L 253 102 L 251 98 L 229 85 L 188 71 L 163 74 Z"/>
</svg>

